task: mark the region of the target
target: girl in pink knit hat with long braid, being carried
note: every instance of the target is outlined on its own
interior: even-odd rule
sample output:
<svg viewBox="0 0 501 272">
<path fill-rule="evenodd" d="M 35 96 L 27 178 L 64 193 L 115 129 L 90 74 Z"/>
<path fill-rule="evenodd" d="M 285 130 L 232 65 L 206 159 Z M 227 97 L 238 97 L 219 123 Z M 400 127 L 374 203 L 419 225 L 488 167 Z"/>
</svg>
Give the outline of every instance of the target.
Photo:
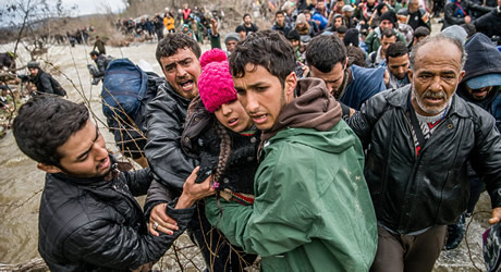
<svg viewBox="0 0 501 272">
<path fill-rule="evenodd" d="M 196 182 L 212 175 L 218 198 L 253 205 L 260 132 L 236 99 L 224 51 L 205 52 L 200 65 L 199 97 L 188 107 L 181 147 L 200 161 Z M 247 255 L 243 259 L 250 264 L 255 258 Z"/>
</svg>

